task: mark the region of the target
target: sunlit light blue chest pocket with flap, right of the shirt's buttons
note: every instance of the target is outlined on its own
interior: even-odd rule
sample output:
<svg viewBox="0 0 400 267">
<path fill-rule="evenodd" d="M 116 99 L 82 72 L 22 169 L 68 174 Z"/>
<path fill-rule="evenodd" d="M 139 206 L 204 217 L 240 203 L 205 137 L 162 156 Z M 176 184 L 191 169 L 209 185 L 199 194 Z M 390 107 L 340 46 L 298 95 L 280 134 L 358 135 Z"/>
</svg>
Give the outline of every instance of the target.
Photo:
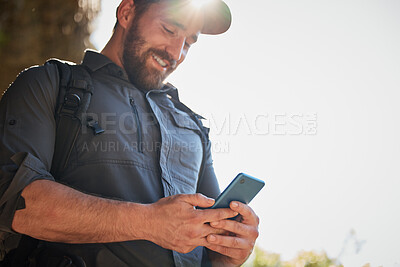
<svg viewBox="0 0 400 267">
<path fill-rule="evenodd" d="M 172 139 L 170 172 L 180 184 L 176 193 L 195 193 L 203 159 L 203 147 L 199 126 L 190 116 L 180 110 L 170 110 L 172 125 L 169 134 Z"/>
</svg>

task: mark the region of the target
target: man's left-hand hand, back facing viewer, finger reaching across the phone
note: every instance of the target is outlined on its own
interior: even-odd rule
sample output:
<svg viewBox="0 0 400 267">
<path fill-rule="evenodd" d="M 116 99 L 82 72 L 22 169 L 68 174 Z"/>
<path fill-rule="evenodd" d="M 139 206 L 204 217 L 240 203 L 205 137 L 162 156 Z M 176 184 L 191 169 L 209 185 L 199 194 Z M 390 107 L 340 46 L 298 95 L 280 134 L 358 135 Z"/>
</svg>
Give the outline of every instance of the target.
<svg viewBox="0 0 400 267">
<path fill-rule="evenodd" d="M 205 246 L 208 244 L 208 235 L 223 232 L 211 227 L 208 222 L 224 220 L 238 214 L 229 208 L 195 208 L 207 208 L 213 204 L 213 199 L 202 194 L 193 194 L 170 196 L 148 205 L 143 224 L 145 239 L 180 253 L 188 253 L 198 246 Z"/>
</svg>

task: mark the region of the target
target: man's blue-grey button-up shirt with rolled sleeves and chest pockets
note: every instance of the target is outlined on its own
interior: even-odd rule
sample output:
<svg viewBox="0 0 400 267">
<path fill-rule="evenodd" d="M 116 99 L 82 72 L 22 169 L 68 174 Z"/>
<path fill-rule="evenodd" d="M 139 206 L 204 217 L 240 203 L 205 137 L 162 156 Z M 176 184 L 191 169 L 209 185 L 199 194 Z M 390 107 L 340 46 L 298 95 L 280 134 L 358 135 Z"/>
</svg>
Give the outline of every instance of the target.
<svg viewBox="0 0 400 267">
<path fill-rule="evenodd" d="M 153 203 L 175 194 L 219 194 L 210 147 L 199 126 L 169 97 L 176 88 L 143 92 L 104 55 L 87 51 L 94 93 L 88 115 L 105 132 L 82 127 L 60 177 L 49 170 L 54 153 L 59 73 L 53 64 L 22 72 L 0 102 L 0 231 L 14 233 L 21 191 L 37 179 L 56 180 L 105 198 Z M 206 153 L 204 172 L 200 166 Z M 200 179 L 200 183 L 198 183 Z M 156 229 L 155 229 L 156 231 Z M 46 246 L 81 256 L 87 266 L 200 266 L 203 248 L 188 254 L 148 241 Z"/>
</svg>

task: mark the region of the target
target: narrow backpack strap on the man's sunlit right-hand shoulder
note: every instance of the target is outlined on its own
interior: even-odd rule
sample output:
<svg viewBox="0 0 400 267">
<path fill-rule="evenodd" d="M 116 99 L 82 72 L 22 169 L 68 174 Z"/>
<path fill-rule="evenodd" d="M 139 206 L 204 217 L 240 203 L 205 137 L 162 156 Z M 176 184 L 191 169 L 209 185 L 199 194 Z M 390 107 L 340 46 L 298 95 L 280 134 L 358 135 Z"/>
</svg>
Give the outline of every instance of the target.
<svg viewBox="0 0 400 267">
<path fill-rule="evenodd" d="M 172 85 L 170 85 L 170 86 L 172 86 Z M 206 159 L 206 157 L 207 157 L 206 150 L 209 149 L 209 146 L 210 146 L 210 138 L 209 138 L 210 129 L 205 127 L 203 125 L 203 123 L 201 122 L 201 119 L 204 119 L 202 116 L 200 116 L 199 114 L 193 112 L 190 108 L 188 108 L 185 104 L 183 104 L 179 100 L 178 91 L 176 89 L 175 90 L 170 90 L 167 94 L 169 96 L 171 96 L 171 101 L 172 101 L 172 103 L 174 103 L 174 106 L 177 109 L 182 110 L 183 112 L 187 113 L 190 116 L 190 118 L 200 128 L 200 138 L 201 138 L 201 144 L 203 146 L 203 158 L 201 160 L 201 166 L 200 166 L 200 171 L 199 171 L 199 179 L 197 181 L 197 187 L 199 187 L 199 185 L 200 185 L 200 183 L 202 181 L 204 168 L 205 168 L 205 163 L 206 163 L 206 160 L 207 160 Z"/>
</svg>

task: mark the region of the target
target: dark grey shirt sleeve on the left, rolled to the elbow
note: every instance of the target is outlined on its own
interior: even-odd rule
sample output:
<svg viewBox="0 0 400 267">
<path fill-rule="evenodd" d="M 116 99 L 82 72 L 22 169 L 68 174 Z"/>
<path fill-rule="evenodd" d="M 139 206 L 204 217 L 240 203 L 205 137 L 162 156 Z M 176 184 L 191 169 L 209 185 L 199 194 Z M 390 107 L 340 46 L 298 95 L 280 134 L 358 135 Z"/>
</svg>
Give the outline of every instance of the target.
<svg viewBox="0 0 400 267">
<path fill-rule="evenodd" d="M 54 152 L 57 66 L 23 71 L 0 101 L 0 231 L 13 233 L 22 190 L 49 173 Z"/>
</svg>

